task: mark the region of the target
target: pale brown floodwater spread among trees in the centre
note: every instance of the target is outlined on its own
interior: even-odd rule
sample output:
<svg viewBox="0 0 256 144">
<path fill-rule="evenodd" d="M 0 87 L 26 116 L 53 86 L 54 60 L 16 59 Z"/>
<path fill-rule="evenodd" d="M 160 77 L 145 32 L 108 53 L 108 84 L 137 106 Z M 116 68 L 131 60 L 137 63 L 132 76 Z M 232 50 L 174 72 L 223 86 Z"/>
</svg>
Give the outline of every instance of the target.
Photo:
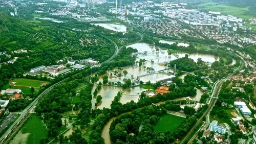
<svg viewBox="0 0 256 144">
<path fill-rule="evenodd" d="M 145 59 L 146 62 L 143 63 L 141 67 L 139 67 L 138 64 L 130 65 L 122 67 L 122 70 L 126 70 L 128 72 L 127 76 L 121 76 L 118 78 L 109 78 L 110 82 L 124 82 L 126 79 L 136 78 L 137 76 L 140 77 L 140 80 L 143 82 L 151 81 L 152 83 L 155 83 L 157 79 L 167 77 L 168 75 L 166 73 L 160 74 L 158 73 L 159 70 L 167 69 L 167 66 L 164 66 L 164 63 L 168 63 L 169 61 L 185 57 L 185 53 L 177 53 L 168 55 L 167 50 L 160 50 L 159 52 L 156 52 L 156 47 L 139 42 L 135 44 L 128 45 L 127 47 L 133 47 L 134 49 L 137 49 L 139 54 L 137 55 L 136 61 L 139 61 L 139 59 Z M 194 61 L 197 61 L 198 58 L 201 58 L 203 61 L 212 63 L 216 60 L 219 60 L 218 57 L 214 55 L 207 55 L 207 54 L 189 54 L 189 58 L 193 59 Z M 146 70 L 145 67 L 153 67 L 155 72 Z M 117 69 L 114 69 L 117 70 Z M 113 71 L 114 71 L 113 70 Z M 121 70 L 121 71 L 122 71 Z M 113 73 L 112 71 L 112 73 Z M 172 69 L 168 69 L 168 71 L 173 71 Z M 110 73 L 105 74 L 110 77 Z M 181 79 L 183 79 L 187 74 L 184 74 L 180 76 Z M 100 77 L 100 81 L 102 82 L 102 79 Z M 94 85 L 92 93 L 94 92 L 95 88 L 97 87 L 97 84 Z M 97 95 L 102 96 L 102 103 L 100 103 L 97 108 L 102 109 L 110 108 L 111 102 L 114 100 L 114 97 L 117 95 L 118 91 L 122 91 L 122 97 L 120 99 L 120 102 L 122 104 L 125 104 L 130 101 L 138 102 L 139 100 L 139 93 L 144 91 L 145 89 L 137 87 L 129 87 L 126 89 L 123 89 L 121 87 L 115 87 L 115 86 L 102 86 L 101 89 L 98 91 Z M 190 99 L 194 99 L 196 101 L 199 101 L 202 95 L 202 91 L 197 89 L 197 95 L 196 97 L 190 97 Z M 96 103 L 96 99 L 94 98 L 92 100 L 92 107 L 95 108 L 94 104 Z"/>
</svg>

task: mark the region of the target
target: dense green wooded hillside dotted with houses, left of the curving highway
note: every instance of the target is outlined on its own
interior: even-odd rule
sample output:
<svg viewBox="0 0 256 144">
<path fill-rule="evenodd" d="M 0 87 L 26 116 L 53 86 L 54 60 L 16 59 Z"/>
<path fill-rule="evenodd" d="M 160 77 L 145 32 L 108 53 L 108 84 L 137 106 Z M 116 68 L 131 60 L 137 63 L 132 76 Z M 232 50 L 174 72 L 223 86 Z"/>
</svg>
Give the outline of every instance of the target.
<svg viewBox="0 0 256 144">
<path fill-rule="evenodd" d="M 56 60 L 94 58 L 100 62 L 110 58 L 114 43 L 93 33 L 68 29 L 70 23 L 54 23 L 44 20 L 25 21 L 0 13 L 0 62 L 18 57 L 12 63 L 3 63 L 0 68 L 0 87 L 17 73 L 25 73 L 39 65 L 54 65 Z M 93 27 L 84 25 L 84 29 Z M 83 42 L 81 42 L 81 39 Z M 27 53 L 13 53 L 15 50 Z"/>
</svg>

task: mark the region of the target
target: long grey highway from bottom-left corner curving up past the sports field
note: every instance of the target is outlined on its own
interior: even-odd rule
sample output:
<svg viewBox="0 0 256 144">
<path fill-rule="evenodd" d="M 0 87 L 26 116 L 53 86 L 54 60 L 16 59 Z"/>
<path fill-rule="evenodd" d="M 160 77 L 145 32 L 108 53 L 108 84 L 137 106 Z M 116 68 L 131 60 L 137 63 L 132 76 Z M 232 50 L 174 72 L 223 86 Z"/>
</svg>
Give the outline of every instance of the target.
<svg viewBox="0 0 256 144">
<path fill-rule="evenodd" d="M 111 40 L 111 39 L 110 39 Z M 119 47 L 118 45 L 113 41 L 111 40 L 114 44 L 115 44 L 115 53 L 108 59 L 106 60 L 105 62 L 108 62 L 110 61 L 111 59 L 114 58 L 114 56 L 116 56 L 119 52 Z M 96 65 L 97 67 L 100 67 L 101 64 L 98 64 Z M 95 67 L 95 66 L 94 66 Z M 66 79 L 64 79 L 66 80 Z M 62 81 L 59 81 L 53 85 L 51 85 L 50 87 L 48 87 L 47 89 L 45 89 L 44 91 L 42 91 L 38 97 L 32 102 L 30 103 L 29 106 L 27 106 L 21 113 L 20 113 L 20 116 L 16 119 L 16 121 L 8 128 L 8 130 L 5 132 L 4 135 L 1 136 L 0 138 L 0 144 L 2 143 L 8 143 L 8 141 L 12 138 L 12 136 L 14 136 L 14 134 L 18 131 L 18 129 L 21 127 L 21 124 L 24 124 L 27 119 L 29 118 L 29 116 L 31 114 L 29 113 L 32 113 L 34 110 L 35 110 L 35 107 L 36 105 L 38 104 L 39 100 L 44 97 L 44 95 L 46 95 L 50 90 L 52 90 L 52 88 L 56 85 L 58 85 L 59 83 L 63 82 L 64 80 Z M 22 123 L 20 123 L 22 122 Z M 14 132 L 14 133 L 13 133 Z"/>
</svg>

